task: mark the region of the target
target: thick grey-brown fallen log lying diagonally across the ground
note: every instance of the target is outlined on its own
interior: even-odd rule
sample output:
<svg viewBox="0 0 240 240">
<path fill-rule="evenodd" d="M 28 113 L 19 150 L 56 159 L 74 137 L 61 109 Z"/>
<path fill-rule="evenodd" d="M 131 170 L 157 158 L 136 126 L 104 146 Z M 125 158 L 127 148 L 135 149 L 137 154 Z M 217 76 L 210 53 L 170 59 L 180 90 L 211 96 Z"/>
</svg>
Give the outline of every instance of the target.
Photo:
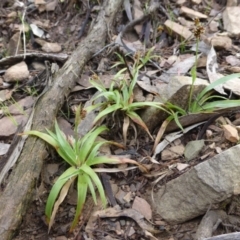
<svg viewBox="0 0 240 240">
<path fill-rule="evenodd" d="M 53 85 L 36 105 L 32 129 L 43 131 L 51 128 L 56 114 L 65 98 L 75 86 L 84 65 L 94 53 L 103 47 L 108 27 L 113 25 L 114 16 L 122 0 L 106 0 L 89 35 L 80 43 L 72 56 L 60 69 Z M 47 156 L 45 143 L 35 137 L 26 140 L 18 165 L 11 173 L 8 184 L 0 194 L 0 239 L 12 239 L 32 200 L 33 190 L 39 178 L 43 160 Z"/>
</svg>

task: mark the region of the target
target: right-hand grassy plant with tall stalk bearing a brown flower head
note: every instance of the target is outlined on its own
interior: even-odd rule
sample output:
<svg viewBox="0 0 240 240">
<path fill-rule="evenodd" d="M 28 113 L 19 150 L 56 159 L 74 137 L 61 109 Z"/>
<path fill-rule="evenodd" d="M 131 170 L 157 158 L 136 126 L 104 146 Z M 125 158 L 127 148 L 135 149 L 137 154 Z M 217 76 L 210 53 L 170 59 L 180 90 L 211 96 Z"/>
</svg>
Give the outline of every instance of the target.
<svg viewBox="0 0 240 240">
<path fill-rule="evenodd" d="M 199 46 L 199 39 L 201 34 L 204 31 L 204 28 L 200 24 L 199 19 L 195 19 L 195 28 L 194 28 L 194 36 L 196 38 L 196 59 L 195 64 L 191 69 L 191 76 L 192 76 L 192 84 L 189 91 L 188 96 L 188 107 L 187 109 L 183 109 L 177 105 L 174 105 L 170 102 L 165 103 L 165 108 L 167 109 L 167 112 L 170 112 L 169 117 L 162 123 L 158 134 L 155 139 L 153 150 L 156 148 L 158 142 L 160 141 L 161 137 L 163 136 L 168 124 L 174 119 L 176 124 L 180 129 L 183 130 L 181 123 L 179 121 L 180 116 L 186 116 L 191 113 L 206 113 L 206 112 L 213 112 L 218 109 L 224 109 L 224 108 L 231 108 L 231 107 L 237 107 L 240 106 L 240 100 L 230 100 L 223 96 L 219 96 L 216 94 L 213 94 L 214 88 L 226 83 L 227 81 L 231 79 L 235 79 L 240 77 L 239 73 L 231 74 L 225 77 L 222 77 L 208 86 L 206 86 L 197 96 L 195 99 L 193 99 L 193 89 L 194 89 L 194 83 L 197 78 L 197 61 L 198 61 L 198 46 Z"/>
</svg>

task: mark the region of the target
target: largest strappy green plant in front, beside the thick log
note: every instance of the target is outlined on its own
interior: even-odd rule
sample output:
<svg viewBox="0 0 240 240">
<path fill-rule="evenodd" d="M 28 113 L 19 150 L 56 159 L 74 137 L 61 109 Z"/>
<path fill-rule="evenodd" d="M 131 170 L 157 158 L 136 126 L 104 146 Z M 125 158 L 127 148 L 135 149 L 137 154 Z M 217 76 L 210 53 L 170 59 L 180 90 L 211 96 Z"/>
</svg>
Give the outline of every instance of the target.
<svg viewBox="0 0 240 240">
<path fill-rule="evenodd" d="M 95 186 L 99 192 L 101 201 L 104 206 L 107 204 L 102 183 L 96 174 L 93 167 L 98 164 L 121 164 L 132 163 L 138 165 L 143 170 L 144 167 L 131 159 L 117 158 L 116 156 L 101 156 L 99 155 L 99 148 L 106 143 L 113 143 L 111 141 L 96 141 L 100 133 L 106 131 L 105 126 L 93 128 L 83 138 L 74 139 L 73 137 L 66 137 L 59 129 L 57 122 L 55 122 L 55 133 L 47 130 L 47 133 L 39 131 L 28 131 L 23 134 L 35 135 L 52 147 L 55 148 L 59 156 L 66 161 L 70 167 L 65 170 L 62 175 L 54 183 L 47 199 L 45 214 L 49 222 L 49 230 L 53 224 L 56 212 L 59 205 L 65 199 L 68 190 L 74 182 L 77 186 L 77 209 L 74 220 L 72 222 L 70 231 L 76 226 L 79 216 L 82 212 L 88 190 L 92 198 L 97 204 L 97 197 L 95 193 Z M 104 171 L 104 169 L 102 170 Z"/>
</svg>

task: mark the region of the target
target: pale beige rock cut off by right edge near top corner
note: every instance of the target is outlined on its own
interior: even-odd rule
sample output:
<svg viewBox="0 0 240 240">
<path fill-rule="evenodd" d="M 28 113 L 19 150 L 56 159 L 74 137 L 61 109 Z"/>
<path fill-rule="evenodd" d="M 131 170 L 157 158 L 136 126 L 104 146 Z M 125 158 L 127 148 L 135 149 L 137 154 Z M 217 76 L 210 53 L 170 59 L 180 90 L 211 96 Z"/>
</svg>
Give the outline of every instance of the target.
<svg viewBox="0 0 240 240">
<path fill-rule="evenodd" d="M 239 24 L 239 12 L 238 7 L 226 7 L 223 12 L 223 25 L 224 29 L 232 36 L 240 36 L 240 24 Z"/>
</svg>

